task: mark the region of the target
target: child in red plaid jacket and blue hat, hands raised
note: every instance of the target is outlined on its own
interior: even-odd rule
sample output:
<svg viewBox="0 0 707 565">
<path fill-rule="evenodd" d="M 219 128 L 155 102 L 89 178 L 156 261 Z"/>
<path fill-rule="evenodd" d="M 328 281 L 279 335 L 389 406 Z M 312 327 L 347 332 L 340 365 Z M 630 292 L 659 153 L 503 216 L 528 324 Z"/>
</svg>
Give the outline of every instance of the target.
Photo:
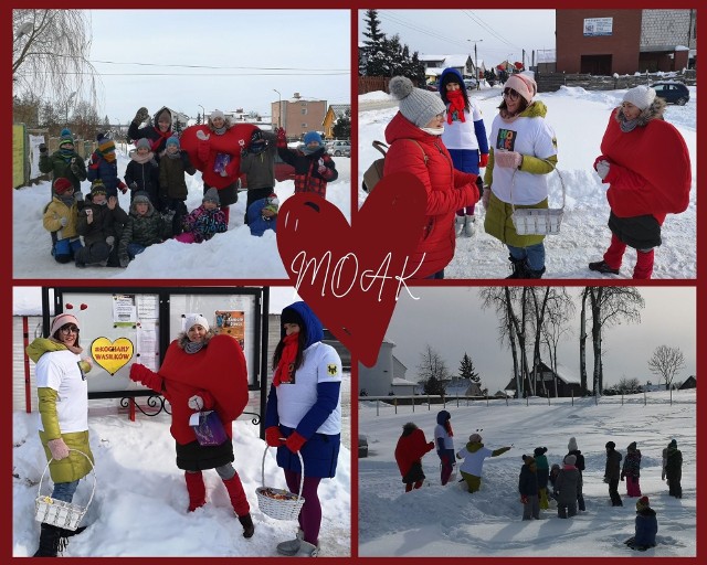
<svg viewBox="0 0 707 565">
<path fill-rule="evenodd" d="M 339 173 L 319 134 L 307 131 L 304 141 L 302 151 L 289 149 L 285 130 L 277 129 L 277 153 L 283 161 L 295 168 L 295 194 L 314 192 L 325 199 L 327 183 L 337 180 Z"/>
</svg>

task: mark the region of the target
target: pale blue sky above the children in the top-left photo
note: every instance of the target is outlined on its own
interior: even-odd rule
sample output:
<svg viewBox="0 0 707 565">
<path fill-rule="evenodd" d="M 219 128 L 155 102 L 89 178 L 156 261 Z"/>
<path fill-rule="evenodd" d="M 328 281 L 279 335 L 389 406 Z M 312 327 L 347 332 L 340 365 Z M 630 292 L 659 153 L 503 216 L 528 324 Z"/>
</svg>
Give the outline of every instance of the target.
<svg viewBox="0 0 707 565">
<path fill-rule="evenodd" d="M 348 10 L 92 10 L 91 28 L 110 122 L 140 106 L 270 116 L 274 89 L 350 103 Z"/>
</svg>

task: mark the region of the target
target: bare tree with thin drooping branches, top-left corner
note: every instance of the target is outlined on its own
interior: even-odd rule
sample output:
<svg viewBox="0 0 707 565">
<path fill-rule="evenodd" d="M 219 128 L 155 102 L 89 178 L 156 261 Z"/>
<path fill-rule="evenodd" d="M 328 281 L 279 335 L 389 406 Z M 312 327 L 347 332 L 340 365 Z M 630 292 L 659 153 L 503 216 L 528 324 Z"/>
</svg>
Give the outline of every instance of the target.
<svg viewBox="0 0 707 565">
<path fill-rule="evenodd" d="M 72 102 L 82 98 L 96 105 L 98 74 L 88 61 L 88 12 L 13 10 L 12 33 L 12 85 L 17 97 L 51 93 L 62 115 L 68 114 Z"/>
</svg>

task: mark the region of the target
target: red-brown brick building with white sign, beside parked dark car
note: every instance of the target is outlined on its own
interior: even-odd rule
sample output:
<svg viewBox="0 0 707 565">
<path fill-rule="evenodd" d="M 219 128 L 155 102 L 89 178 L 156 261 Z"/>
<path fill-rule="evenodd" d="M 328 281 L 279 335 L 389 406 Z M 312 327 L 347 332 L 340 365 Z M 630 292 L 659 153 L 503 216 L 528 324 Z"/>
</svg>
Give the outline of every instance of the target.
<svg viewBox="0 0 707 565">
<path fill-rule="evenodd" d="M 696 10 L 556 10 L 557 71 L 671 72 L 696 62 Z"/>
</svg>

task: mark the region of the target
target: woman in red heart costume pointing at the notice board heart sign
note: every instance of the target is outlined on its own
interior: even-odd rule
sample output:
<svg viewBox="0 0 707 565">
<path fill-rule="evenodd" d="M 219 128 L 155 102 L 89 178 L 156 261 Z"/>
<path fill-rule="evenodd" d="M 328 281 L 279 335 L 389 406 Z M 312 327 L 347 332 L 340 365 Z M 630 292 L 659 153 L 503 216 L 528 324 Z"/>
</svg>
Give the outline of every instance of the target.
<svg viewBox="0 0 707 565">
<path fill-rule="evenodd" d="M 243 350 L 231 335 L 214 335 L 203 316 L 186 317 L 184 330 L 169 344 L 165 361 L 155 373 L 139 363 L 130 367 L 130 380 L 161 394 L 171 404 L 170 431 L 177 441 L 177 467 L 183 469 L 189 492 L 189 512 L 207 502 L 201 471 L 215 469 L 243 526 L 243 536 L 255 531 L 241 478 L 233 465 L 232 423 L 247 404 L 247 370 Z M 226 439 L 221 445 L 201 445 L 190 425 L 193 414 L 215 411 Z"/>
</svg>

